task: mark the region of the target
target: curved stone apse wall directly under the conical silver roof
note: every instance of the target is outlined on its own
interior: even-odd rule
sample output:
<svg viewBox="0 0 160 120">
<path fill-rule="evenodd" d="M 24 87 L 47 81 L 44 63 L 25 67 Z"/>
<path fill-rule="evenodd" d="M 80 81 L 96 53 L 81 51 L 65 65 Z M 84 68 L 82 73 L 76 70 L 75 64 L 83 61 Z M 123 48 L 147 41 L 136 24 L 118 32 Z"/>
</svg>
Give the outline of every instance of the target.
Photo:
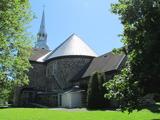
<svg viewBox="0 0 160 120">
<path fill-rule="evenodd" d="M 54 59 L 47 64 L 47 76 L 50 78 L 54 76 L 57 84 L 62 89 L 66 89 L 73 85 L 73 81 L 80 79 L 92 59 L 92 57 L 84 56 L 69 56 Z"/>
</svg>

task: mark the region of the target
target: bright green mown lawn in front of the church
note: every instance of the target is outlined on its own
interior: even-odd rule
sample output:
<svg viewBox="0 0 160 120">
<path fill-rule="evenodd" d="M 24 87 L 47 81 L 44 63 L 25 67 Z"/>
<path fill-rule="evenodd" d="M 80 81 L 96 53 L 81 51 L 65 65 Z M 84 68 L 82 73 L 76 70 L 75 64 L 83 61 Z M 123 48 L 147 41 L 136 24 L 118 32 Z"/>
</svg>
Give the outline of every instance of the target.
<svg viewBox="0 0 160 120">
<path fill-rule="evenodd" d="M 160 120 L 148 110 L 132 114 L 117 111 L 62 111 L 38 108 L 0 109 L 0 120 Z"/>
</svg>

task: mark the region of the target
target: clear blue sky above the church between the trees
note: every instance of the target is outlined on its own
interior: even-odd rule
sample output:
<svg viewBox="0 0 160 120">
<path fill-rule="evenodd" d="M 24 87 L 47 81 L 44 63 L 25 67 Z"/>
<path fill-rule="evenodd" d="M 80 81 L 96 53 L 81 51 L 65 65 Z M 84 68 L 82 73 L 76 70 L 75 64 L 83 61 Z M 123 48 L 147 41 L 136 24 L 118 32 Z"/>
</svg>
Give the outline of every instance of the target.
<svg viewBox="0 0 160 120">
<path fill-rule="evenodd" d="M 30 31 L 36 37 L 43 5 L 45 5 L 46 31 L 50 49 L 56 48 L 72 33 L 81 37 L 98 54 L 122 46 L 118 34 L 122 25 L 111 13 L 111 3 L 117 0 L 30 0 L 36 19 Z"/>
</svg>

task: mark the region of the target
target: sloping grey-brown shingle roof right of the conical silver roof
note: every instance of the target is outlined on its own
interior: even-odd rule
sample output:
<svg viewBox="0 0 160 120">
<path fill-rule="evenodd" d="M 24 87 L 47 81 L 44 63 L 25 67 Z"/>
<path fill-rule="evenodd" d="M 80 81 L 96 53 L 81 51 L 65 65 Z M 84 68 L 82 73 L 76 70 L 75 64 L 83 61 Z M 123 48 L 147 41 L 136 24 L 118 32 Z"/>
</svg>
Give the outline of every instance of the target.
<svg viewBox="0 0 160 120">
<path fill-rule="evenodd" d="M 94 58 L 82 78 L 89 77 L 94 72 L 109 72 L 117 70 L 124 58 L 125 55 L 113 54 L 112 52 Z"/>
</svg>

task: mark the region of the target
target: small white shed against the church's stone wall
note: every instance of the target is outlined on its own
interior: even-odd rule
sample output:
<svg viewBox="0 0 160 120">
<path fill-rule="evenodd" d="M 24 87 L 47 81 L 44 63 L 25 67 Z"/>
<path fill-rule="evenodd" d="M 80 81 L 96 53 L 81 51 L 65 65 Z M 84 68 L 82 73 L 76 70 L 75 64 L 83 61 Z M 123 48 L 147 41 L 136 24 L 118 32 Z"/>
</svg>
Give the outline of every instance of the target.
<svg viewBox="0 0 160 120">
<path fill-rule="evenodd" d="M 82 107 L 83 90 L 70 90 L 61 94 L 61 107 L 76 108 Z"/>
</svg>

